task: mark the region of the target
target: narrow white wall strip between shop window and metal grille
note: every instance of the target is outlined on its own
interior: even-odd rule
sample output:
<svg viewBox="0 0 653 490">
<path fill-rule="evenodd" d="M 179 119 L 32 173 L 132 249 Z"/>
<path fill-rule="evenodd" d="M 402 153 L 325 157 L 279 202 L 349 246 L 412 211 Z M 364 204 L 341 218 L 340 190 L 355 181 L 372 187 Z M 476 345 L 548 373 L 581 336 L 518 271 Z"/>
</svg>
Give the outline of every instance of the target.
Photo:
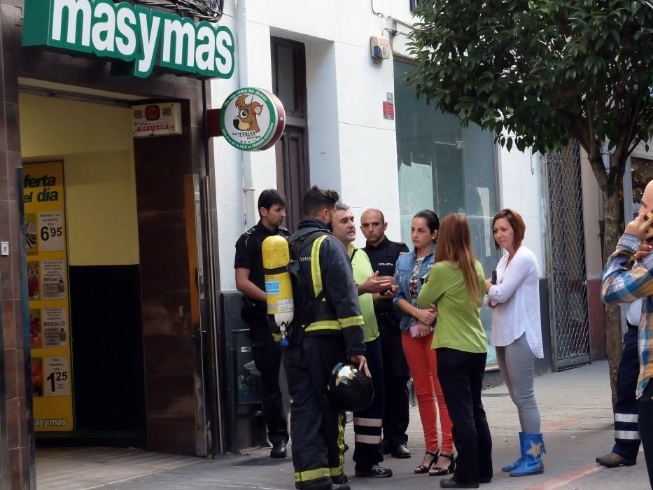
<svg viewBox="0 0 653 490">
<path fill-rule="evenodd" d="M 499 188 L 501 193 L 500 208 L 510 208 L 521 214 L 526 223 L 524 245 L 535 253 L 540 267 L 540 277 L 547 276 L 546 271 L 546 221 L 545 198 L 541 192 L 540 155 L 527 150 L 522 153 L 514 147 L 512 151 L 498 148 L 499 152 Z"/>
</svg>

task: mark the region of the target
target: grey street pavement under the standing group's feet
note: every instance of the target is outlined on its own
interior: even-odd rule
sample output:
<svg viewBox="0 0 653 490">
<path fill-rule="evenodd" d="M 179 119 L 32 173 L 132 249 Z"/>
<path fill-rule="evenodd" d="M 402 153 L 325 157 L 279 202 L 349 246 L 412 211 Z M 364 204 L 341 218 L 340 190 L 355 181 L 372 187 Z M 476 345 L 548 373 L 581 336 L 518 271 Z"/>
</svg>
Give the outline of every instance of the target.
<svg viewBox="0 0 653 490">
<path fill-rule="evenodd" d="M 610 406 L 608 364 L 605 361 L 565 372 L 545 374 L 535 379 L 535 395 L 542 412 L 542 432 L 547 456 L 545 472 L 533 477 L 510 477 L 500 467 L 519 456 L 517 410 L 505 386 L 483 392 L 493 438 L 494 478 L 483 490 L 593 490 L 649 489 L 644 455 L 640 451 L 635 466 L 607 469 L 594 462 L 596 455 L 612 449 L 614 433 Z M 301 437 L 295 434 L 294 437 Z M 345 472 L 353 490 L 395 490 L 440 488 L 439 477 L 414 475 L 424 451 L 421 424 L 416 407 L 411 409 L 409 449 L 413 457 L 388 457 L 384 463 L 395 475 L 386 479 L 353 476 L 353 428 L 346 429 L 351 450 L 346 453 Z M 258 489 L 291 490 L 293 466 L 290 457 L 271 459 L 269 449 L 227 455 L 212 461 L 198 461 L 183 468 L 157 472 L 97 488 L 106 489 Z"/>
</svg>

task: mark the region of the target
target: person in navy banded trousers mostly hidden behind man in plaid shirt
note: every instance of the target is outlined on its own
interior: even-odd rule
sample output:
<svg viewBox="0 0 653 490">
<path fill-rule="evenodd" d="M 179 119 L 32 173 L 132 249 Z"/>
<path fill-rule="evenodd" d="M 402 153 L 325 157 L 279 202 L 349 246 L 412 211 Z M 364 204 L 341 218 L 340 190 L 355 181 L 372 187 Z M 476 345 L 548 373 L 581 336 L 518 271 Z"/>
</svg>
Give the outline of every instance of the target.
<svg viewBox="0 0 653 490">
<path fill-rule="evenodd" d="M 628 332 L 624 335 L 624 352 L 617 370 L 617 402 L 615 403 L 615 446 L 609 453 L 596 458 L 607 468 L 634 465 L 640 450 L 638 414 L 640 401 L 636 398 L 640 359 L 637 349 L 637 330 L 642 315 L 642 300 L 635 300 L 626 310 Z"/>
</svg>

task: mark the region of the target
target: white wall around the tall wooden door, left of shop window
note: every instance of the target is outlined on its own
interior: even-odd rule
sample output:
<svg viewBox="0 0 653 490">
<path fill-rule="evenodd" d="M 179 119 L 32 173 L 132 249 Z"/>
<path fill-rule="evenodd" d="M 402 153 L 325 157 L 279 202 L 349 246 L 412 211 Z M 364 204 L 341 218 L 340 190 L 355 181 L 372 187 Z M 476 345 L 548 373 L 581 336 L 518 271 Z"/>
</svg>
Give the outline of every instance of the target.
<svg viewBox="0 0 653 490">
<path fill-rule="evenodd" d="M 240 13 L 234 0 L 225 2 L 220 24 L 234 32 L 237 66 L 232 79 L 212 81 L 211 106 L 220 107 L 238 87 L 271 88 L 270 36 L 304 43 L 311 184 L 338 190 L 357 220 L 368 207 L 381 209 L 388 235 L 398 239 L 395 123 L 384 120 L 382 110 L 386 94 L 394 92 L 393 61 L 375 64 L 370 56 L 370 36 L 388 37 L 386 27 L 393 22 L 374 15 L 367 1 L 240 0 L 239 8 Z M 398 9 L 397 15 L 409 20 L 407 1 L 374 0 L 374 8 L 385 16 Z M 243 11 L 246 20 L 239 22 Z M 213 158 L 220 289 L 233 290 L 234 244 L 258 220 L 247 211 L 260 192 L 276 187 L 275 154 L 242 153 L 216 138 Z M 245 192 L 249 159 L 254 190 Z M 364 243 L 362 235 L 358 241 Z"/>
</svg>

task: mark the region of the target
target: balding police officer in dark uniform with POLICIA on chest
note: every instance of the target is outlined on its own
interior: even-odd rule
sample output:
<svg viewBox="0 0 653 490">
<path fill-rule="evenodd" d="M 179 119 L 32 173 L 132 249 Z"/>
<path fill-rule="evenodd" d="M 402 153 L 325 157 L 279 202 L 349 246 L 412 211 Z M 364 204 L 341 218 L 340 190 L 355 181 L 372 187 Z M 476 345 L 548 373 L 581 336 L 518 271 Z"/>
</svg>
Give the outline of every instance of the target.
<svg viewBox="0 0 653 490">
<path fill-rule="evenodd" d="M 386 237 L 386 228 L 388 223 L 378 209 L 367 209 L 360 216 L 360 231 L 367 239 L 363 250 L 370 257 L 372 269 L 379 272 L 379 278 L 393 276 L 397 258 L 400 254 L 408 252 L 406 244 L 391 241 Z M 374 311 L 381 334 L 381 356 L 384 365 L 388 366 L 384 370 L 384 454 L 391 454 L 395 458 L 409 458 L 406 430 L 409 421 L 407 382 L 410 372 L 402 349 L 399 318 L 393 309 L 391 296 L 375 299 Z"/>
</svg>

